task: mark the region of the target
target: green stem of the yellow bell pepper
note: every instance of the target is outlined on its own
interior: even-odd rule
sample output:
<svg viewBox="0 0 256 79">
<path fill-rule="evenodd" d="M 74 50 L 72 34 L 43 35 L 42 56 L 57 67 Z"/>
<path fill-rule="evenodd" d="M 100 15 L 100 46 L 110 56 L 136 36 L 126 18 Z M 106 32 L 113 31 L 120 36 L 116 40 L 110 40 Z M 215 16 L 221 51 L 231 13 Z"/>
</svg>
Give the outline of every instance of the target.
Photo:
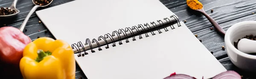
<svg viewBox="0 0 256 79">
<path fill-rule="evenodd" d="M 35 59 L 36 62 L 40 62 L 44 59 L 44 57 L 51 55 L 51 53 L 49 51 L 47 51 L 47 53 L 45 53 L 41 49 L 38 49 L 37 53 L 38 53 L 38 57 Z"/>
</svg>

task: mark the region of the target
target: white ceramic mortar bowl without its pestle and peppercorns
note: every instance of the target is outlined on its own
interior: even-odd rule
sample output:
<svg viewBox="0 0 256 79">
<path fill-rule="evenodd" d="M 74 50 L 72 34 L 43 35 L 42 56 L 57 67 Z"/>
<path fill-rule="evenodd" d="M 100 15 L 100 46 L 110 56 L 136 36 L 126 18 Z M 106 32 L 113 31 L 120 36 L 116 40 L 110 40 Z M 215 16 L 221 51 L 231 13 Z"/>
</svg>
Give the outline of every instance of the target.
<svg viewBox="0 0 256 79">
<path fill-rule="evenodd" d="M 249 34 L 256 35 L 256 21 L 244 21 L 232 25 L 225 34 L 225 48 L 234 65 L 244 71 L 256 72 L 256 56 L 245 54 L 234 47 L 234 42 Z"/>
</svg>

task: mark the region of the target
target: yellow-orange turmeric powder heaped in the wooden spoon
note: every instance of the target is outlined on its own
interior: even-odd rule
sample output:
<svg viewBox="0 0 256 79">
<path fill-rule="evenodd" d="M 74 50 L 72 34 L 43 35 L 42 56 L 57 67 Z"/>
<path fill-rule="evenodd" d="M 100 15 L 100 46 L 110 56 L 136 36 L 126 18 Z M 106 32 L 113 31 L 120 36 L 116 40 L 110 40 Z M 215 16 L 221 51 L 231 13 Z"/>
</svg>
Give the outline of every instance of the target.
<svg viewBox="0 0 256 79">
<path fill-rule="evenodd" d="M 189 6 L 189 8 L 194 10 L 203 8 L 203 4 L 200 3 L 198 0 L 187 0 L 186 3 Z"/>
</svg>

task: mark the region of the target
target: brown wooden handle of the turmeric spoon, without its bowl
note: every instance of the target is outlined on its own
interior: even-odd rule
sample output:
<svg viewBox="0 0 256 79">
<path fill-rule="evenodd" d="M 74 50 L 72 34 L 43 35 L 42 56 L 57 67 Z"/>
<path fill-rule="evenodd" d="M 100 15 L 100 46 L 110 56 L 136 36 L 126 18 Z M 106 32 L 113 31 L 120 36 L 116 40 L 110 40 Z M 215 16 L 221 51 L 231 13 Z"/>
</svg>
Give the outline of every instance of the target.
<svg viewBox="0 0 256 79">
<path fill-rule="evenodd" d="M 226 31 L 224 31 L 220 25 L 218 25 L 217 22 L 215 22 L 215 20 L 212 19 L 212 17 L 210 17 L 204 10 L 201 11 L 203 13 L 203 15 L 209 20 L 210 23 L 212 23 L 213 27 L 219 32 L 221 33 L 222 36 L 225 36 Z"/>
</svg>

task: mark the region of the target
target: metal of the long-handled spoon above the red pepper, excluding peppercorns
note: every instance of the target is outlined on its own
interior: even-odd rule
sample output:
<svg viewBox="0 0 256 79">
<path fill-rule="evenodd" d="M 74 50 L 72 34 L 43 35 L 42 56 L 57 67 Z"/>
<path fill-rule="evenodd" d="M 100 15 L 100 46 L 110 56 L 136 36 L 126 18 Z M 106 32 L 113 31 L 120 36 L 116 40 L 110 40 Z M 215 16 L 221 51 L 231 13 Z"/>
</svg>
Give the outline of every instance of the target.
<svg viewBox="0 0 256 79">
<path fill-rule="evenodd" d="M 23 21 L 23 23 L 20 25 L 20 31 L 23 31 L 25 26 L 26 26 L 26 23 L 28 22 L 29 20 L 29 17 L 35 12 L 35 10 L 39 7 L 46 7 L 48 5 L 50 5 L 52 3 L 53 0 L 51 0 L 51 2 L 49 2 L 47 5 L 45 6 L 40 6 L 38 4 L 35 3 L 34 0 L 32 0 L 32 2 L 35 4 L 35 6 L 31 9 L 31 11 L 29 12 L 29 14 L 27 15 L 27 17 L 25 18 L 25 20 Z"/>
</svg>

